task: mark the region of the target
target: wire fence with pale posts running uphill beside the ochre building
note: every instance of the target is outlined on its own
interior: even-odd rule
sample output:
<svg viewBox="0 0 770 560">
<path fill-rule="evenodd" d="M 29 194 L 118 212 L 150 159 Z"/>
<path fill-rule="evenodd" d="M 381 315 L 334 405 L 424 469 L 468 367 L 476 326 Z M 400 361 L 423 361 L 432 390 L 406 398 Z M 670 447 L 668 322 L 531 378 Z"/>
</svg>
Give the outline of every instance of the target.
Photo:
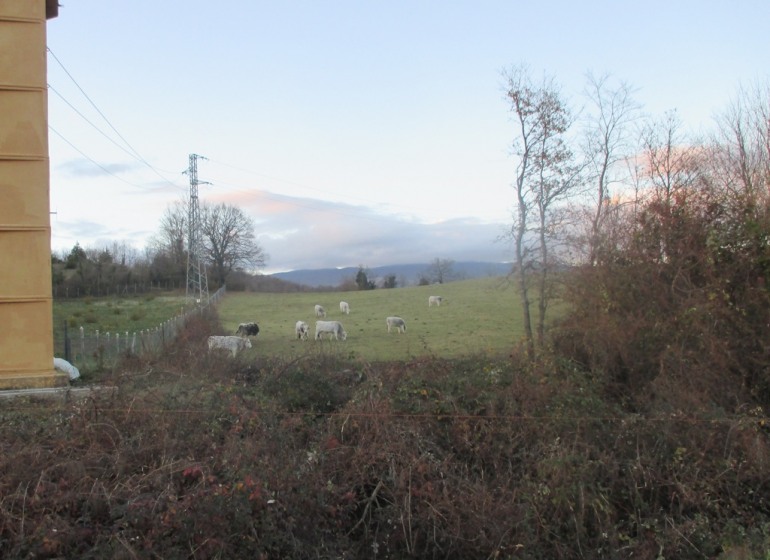
<svg viewBox="0 0 770 560">
<path fill-rule="evenodd" d="M 222 286 L 205 302 L 200 302 L 194 309 L 180 313 L 157 327 L 134 332 L 99 332 L 87 331 L 83 327 L 68 329 L 65 325 L 63 338 L 54 341 L 64 359 L 80 369 L 102 368 L 114 365 L 118 358 L 126 355 L 142 356 L 165 348 L 184 329 L 194 315 L 203 315 L 209 311 L 225 294 Z"/>
</svg>

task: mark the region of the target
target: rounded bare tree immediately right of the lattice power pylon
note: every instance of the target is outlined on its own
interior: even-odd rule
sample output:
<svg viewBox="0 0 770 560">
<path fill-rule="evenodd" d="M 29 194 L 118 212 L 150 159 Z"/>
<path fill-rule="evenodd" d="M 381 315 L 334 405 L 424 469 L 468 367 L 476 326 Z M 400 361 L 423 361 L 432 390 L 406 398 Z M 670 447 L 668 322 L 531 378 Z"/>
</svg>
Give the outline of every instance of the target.
<svg viewBox="0 0 770 560">
<path fill-rule="evenodd" d="M 201 238 L 205 260 L 218 284 L 234 269 L 254 270 L 267 255 L 254 234 L 254 222 L 239 208 L 227 204 L 201 206 Z"/>
</svg>

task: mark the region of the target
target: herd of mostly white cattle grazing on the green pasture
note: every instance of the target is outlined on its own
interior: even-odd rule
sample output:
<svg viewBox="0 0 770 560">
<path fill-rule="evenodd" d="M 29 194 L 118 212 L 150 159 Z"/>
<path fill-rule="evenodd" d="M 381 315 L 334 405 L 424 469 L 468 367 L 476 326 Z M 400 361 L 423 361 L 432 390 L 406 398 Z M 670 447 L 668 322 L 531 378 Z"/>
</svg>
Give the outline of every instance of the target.
<svg viewBox="0 0 770 560">
<path fill-rule="evenodd" d="M 430 296 L 428 298 L 428 307 L 440 306 L 444 300 L 441 296 Z M 345 315 L 350 314 L 350 305 L 346 301 L 340 302 L 340 312 Z M 315 339 L 321 340 L 324 334 L 328 334 L 329 338 L 335 340 L 345 340 L 348 337 L 348 333 L 345 332 L 345 328 L 339 321 L 325 321 L 326 310 L 321 305 L 315 306 L 315 316 L 319 318 L 315 322 Z M 385 324 L 388 327 L 388 332 L 391 329 L 395 329 L 399 333 L 406 332 L 406 322 L 401 317 L 387 317 Z M 250 336 L 257 336 L 259 334 L 259 325 L 256 322 L 241 323 L 238 325 L 238 329 L 235 331 L 235 336 L 210 336 L 209 337 L 209 351 L 212 350 L 226 350 L 235 357 L 238 352 L 241 352 L 247 348 L 251 348 Z M 310 327 L 305 321 L 297 321 L 294 325 L 294 334 L 299 340 L 307 340 L 310 334 Z"/>
</svg>

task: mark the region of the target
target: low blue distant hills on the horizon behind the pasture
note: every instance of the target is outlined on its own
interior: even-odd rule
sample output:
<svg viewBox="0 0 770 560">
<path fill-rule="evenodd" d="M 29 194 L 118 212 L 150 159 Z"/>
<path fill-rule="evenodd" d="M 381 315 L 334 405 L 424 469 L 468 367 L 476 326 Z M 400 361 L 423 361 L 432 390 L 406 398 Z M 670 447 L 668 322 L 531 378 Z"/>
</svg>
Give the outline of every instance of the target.
<svg viewBox="0 0 770 560">
<path fill-rule="evenodd" d="M 420 276 L 428 270 L 429 266 L 429 263 L 374 266 L 367 268 L 367 274 L 369 275 L 369 280 L 377 282 L 378 285 L 380 279 L 395 274 L 399 286 L 413 286 L 419 282 Z M 508 274 L 510 270 L 511 263 L 468 261 L 455 262 L 452 265 L 455 280 L 502 276 Z M 276 272 L 269 276 L 295 284 L 318 288 L 322 286 L 339 286 L 345 280 L 355 279 L 357 272 L 357 266 L 349 266 L 346 268 L 291 270 L 289 272 Z"/>
</svg>

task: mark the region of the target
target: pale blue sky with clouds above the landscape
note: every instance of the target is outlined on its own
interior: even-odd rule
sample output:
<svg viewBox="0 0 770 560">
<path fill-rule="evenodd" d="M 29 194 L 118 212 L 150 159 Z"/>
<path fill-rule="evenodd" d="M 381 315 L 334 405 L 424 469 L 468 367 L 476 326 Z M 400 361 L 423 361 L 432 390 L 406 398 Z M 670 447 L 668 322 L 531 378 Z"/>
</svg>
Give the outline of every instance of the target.
<svg viewBox="0 0 770 560">
<path fill-rule="evenodd" d="M 768 79 L 767 0 L 69 0 L 47 23 L 51 244 L 143 250 L 189 197 L 263 272 L 508 261 L 504 72 L 636 89 L 693 134 Z M 205 159 L 204 159 L 205 158 Z"/>
</svg>

